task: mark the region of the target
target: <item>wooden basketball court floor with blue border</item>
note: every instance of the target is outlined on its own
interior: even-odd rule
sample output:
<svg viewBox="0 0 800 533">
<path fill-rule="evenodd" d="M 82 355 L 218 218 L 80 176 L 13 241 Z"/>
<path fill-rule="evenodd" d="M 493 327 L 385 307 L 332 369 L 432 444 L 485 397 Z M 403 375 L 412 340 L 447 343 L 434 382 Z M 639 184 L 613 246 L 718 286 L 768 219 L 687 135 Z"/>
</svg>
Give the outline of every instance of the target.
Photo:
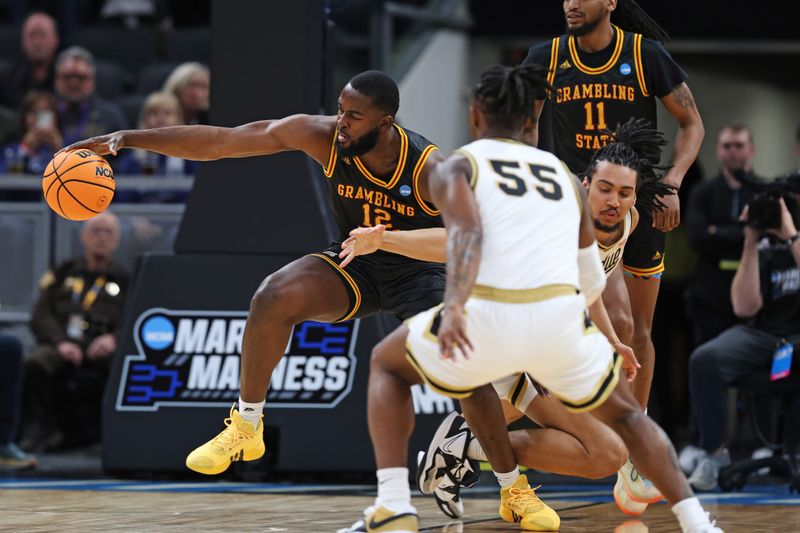
<svg viewBox="0 0 800 533">
<path fill-rule="evenodd" d="M 372 485 L 133 481 L 0 477 L 0 531 L 286 531 L 334 532 L 349 526 L 374 498 Z M 498 518 L 498 492 L 486 473 L 465 491 L 461 520 L 446 518 L 419 494 L 414 505 L 425 532 L 514 532 Z M 531 476 L 531 480 L 535 476 Z M 706 493 L 701 501 L 728 533 L 800 531 L 800 494 L 759 481 L 741 492 Z M 679 531 L 666 504 L 637 519 L 611 497 L 612 482 L 549 483 L 539 495 L 561 516 L 562 532 Z"/>
</svg>

